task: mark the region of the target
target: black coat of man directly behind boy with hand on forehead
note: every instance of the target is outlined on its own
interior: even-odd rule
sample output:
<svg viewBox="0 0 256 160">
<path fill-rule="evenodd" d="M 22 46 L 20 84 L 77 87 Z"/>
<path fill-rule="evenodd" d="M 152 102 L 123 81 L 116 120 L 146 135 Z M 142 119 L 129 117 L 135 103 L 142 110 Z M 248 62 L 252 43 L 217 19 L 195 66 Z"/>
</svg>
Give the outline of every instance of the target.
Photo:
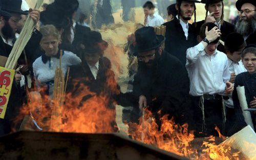
<svg viewBox="0 0 256 160">
<path fill-rule="evenodd" d="M 194 22 L 194 24 L 192 24 L 194 31 L 196 32 L 197 35 L 199 35 L 201 26 L 204 24 L 204 22 L 205 20 L 201 20 L 198 22 Z M 234 25 L 224 20 L 223 24 L 221 25 L 221 40 L 225 42 L 227 35 L 235 31 L 236 30 Z M 225 47 L 222 44 L 218 45 L 217 50 L 226 53 Z"/>
</svg>

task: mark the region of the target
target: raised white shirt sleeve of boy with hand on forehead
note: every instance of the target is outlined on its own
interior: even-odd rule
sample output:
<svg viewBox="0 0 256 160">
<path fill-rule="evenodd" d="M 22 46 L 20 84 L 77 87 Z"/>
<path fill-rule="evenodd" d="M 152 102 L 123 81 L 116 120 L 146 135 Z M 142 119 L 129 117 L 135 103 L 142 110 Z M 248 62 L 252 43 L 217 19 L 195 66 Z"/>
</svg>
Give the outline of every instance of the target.
<svg viewBox="0 0 256 160">
<path fill-rule="evenodd" d="M 186 55 L 186 57 L 187 57 L 186 67 L 190 67 L 191 65 L 193 65 L 196 62 L 196 60 L 200 56 L 200 53 L 203 50 L 204 50 L 204 45 L 202 44 L 202 42 L 197 44 L 195 47 L 191 47 L 191 48 L 187 49 L 187 52 L 186 52 L 186 54 L 187 54 Z"/>
</svg>

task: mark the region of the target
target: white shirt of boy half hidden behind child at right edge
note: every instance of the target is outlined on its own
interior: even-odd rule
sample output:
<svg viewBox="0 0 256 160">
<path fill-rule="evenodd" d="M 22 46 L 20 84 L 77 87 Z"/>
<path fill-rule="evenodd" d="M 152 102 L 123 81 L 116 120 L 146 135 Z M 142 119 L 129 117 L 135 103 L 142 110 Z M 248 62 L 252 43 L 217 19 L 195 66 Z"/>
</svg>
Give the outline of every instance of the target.
<svg viewBox="0 0 256 160">
<path fill-rule="evenodd" d="M 231 59 L 228 58 L 228 67 L 229 67 L 229 73 L 236 74 L 236 76 L 240 73 L 246 72 L 246 68 L 243 65 L 243 62 L 240 60 L 239 62 L 234 62 Z M 228 95 L 229 99 L 225 100 L 225 105 L 229 108 L 234 108 L 233 100 L 232 100 L 232 93 Z"/>
</svg>

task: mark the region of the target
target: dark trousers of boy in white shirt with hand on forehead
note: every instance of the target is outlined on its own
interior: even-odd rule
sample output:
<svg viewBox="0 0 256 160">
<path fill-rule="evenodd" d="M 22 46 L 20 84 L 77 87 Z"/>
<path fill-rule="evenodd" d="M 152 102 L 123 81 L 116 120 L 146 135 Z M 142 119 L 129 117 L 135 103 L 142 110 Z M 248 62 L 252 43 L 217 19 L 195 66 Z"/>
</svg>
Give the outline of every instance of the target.
<svg viewBox="0 0 256 160">
<path fill-rule="evenodd" d="M 197 137 L 203 136 L 219 136 L 218 131 L 215 127 L 217 126 L 221 134 L 224 134 L 223 126 L 223 107 L 222 99 L 204 99 L 204 120 L 203 120 L 203 111 L 200 108 L 200 97 L 191 97 L 193 108 L 194 108 L 194 121 Z M 205 125 L 203 122 L 205 121 Z M 205 128 L 203 128 L 205 127 Z"/>
</svg>

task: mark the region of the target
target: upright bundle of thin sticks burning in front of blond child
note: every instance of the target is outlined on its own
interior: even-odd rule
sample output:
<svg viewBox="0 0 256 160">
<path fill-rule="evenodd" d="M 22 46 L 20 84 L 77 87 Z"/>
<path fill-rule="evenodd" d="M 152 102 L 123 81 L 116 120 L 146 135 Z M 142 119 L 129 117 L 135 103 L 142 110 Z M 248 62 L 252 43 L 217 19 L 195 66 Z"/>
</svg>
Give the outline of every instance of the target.
<svg viewBox="0 0 256 160">
<path fill-rule="evenodd" d="M 61 59 L 62 59 L 62 51 L 60 51 L 59 58 L 59 67 L 55 70 L 54 77 L 54 90 L 53 90 L 53 106 L 52 106 L 52 114 L 51 114 L 51 125 L 50 130 L 52 131 L 60 131 L 61 118 L 62 118 L 62 106 L 65 101 L 66 96 L 66 88 L 69 77 L 69 68 L 67 72 L 67 79 L 65 82 L 65 75 L 61 70 Z"/>
</svg>

